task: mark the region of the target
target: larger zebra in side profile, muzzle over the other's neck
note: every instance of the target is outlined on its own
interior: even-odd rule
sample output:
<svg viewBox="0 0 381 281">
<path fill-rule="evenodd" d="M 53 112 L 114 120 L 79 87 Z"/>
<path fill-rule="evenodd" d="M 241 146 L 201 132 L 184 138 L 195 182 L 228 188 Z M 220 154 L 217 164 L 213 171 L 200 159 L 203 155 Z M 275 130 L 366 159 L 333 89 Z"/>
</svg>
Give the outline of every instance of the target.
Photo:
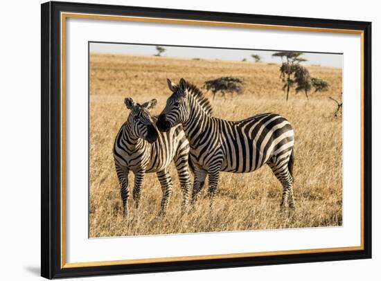
<svg viewBox="0 0 381 281">
<path fill-rule="evenodd" d="M 283 185 L 281 209 L 294 208 L 292 192 L 294 131 L 278 114 L 257 114 L 240 121 L 211 116 L 211 104 L 200 89 L 181 78 L 178 86 L 167 80 L 172 95 L 161 112 L 157 127 L 167 132 L 182 124 L 190 143 L 195 170 L 192 202 L 209 176 L 211 206 L 220 172 L 252 172 L 267 164 Z"/>
</svg>

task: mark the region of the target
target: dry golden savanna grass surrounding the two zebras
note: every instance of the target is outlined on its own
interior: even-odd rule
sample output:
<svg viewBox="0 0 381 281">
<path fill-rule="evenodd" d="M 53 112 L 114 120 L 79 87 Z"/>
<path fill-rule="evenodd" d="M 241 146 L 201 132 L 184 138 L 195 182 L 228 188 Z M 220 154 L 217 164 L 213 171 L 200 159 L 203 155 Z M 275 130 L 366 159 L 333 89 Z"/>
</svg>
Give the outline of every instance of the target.
<svg viewBox="0 0 381 281">
<path fill-rule="evenodd" d="M 328 97 L 340 100 L 342 69 L 307 68 L 312 77 L 326 80 L 330 89 L 310 93 L 309 100 L 292 91 L 286 102 L 278 64 L 91 54 L 90 237 L 341 226 L 342 118 L 333 116 L 337 107 Z M 228 75 L 242 78 L 245 90 L 239 96 L 210 98 L 213 116 L 240 120 L 271 111 L 285 116 L 294 127 L 296 210 L 280 212 L 281 183 L 264 166 L 247 174 L 222 172 L 213 209 L 204 188 L 195 208 L 183 214 L 172 165 L 174 189 L 166 217 L 158 217 L 161 188 L 156 174 L 146 174 L 139 210 L 134 211 L 130 173 L 130 216 L 123 219 L 112 147 L 129 114 L 124 98 L 141 103 L 156 98 L 152 114 L 159 114 L 170 95 L 166 78 L 178 82 L 184 77 L 202 87 L 206 80 Z"/>
</svg>

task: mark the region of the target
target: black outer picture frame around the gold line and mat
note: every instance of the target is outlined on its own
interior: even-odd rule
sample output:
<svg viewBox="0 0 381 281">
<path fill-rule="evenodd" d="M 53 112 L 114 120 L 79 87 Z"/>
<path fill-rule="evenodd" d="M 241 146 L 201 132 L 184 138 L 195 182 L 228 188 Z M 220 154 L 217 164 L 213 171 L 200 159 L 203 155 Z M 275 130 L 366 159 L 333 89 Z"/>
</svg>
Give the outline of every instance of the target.
<svg viewBox="0 0 381 281">
<path fill-rule="evenodd" d="M 216 269 L 237 266 L 269 264 L 294 264 L 299 262 L 323 262 L 371 258 L 371 22 L 333 19 L 308 19 L 301 17 L 278 17 L 247 15 L 225 12 L 195 10 L 172 10 L 131 6 L 110 6 L 87 3 L 43 3 L 41 22 L 42 57 L 42 173 L 41 173 L 41 275 L 44 278 L 69 278 L 88 275 L 111 275 L 125 273 L 148 273 L 184 271 L 193 269 Z M 245 24 L 269 24 L 276 26 L 302 26 L 311 28 L 335 28 L 360 30 L 364 36 L 363 46 L 363 102 L 364 102 L 364 176 L 363 176 L 363 242 L 358 251 L 326 253 L 303 253 L 260 257 L 234 257 L 213 260 L 190 260 L 177 262 L 151 262 L 146 264 L 119 264 L 64 268 L 61 264 L 61 131 L 60 131 L 60 13 L 80 12 L 97 15 L 121 15 L 202 21 L 224 21 Z"/>
</svg>

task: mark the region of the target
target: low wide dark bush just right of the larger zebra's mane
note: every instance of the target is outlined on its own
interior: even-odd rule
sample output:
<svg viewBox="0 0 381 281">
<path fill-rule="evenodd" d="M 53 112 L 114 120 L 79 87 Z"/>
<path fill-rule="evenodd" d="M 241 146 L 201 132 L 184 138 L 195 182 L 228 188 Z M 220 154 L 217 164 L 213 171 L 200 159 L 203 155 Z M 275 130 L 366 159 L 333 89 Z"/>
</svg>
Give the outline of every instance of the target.
<svg viewBox="0 0 381 281">
<path fill-rule="evenodd" d="M 243 91 L 243 80 L 237 77 L 221 77 L 214 80 L 209 80 L 204 83 L 204 88 L 206 91 L 211 91 L 213 94 L 213 100 L 215 94 L 219 91 L 222 93 L 222 97 L 225 96 L 225 93 L 236 92 L 241 94 Z"/>
</svg>

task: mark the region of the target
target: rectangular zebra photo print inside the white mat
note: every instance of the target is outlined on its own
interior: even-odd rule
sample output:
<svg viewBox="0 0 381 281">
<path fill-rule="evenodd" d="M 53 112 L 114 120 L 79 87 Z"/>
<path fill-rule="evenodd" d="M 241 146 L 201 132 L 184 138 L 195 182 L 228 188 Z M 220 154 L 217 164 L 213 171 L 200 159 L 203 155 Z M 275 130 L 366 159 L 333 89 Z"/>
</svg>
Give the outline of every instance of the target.
<svg viewBox="0 0 381 281">
<path fill-rule="evenodd" d="M 89 237 L 342 226 L 342 67 L 89 42 Z"/>
</svg>

